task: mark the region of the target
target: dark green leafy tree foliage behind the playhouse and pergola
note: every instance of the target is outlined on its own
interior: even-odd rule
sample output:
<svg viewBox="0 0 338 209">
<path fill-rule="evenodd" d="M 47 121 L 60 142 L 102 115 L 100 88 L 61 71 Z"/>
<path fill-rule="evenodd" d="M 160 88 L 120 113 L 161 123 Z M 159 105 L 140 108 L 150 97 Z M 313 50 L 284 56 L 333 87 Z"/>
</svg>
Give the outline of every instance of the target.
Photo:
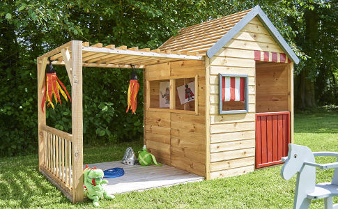
<svg viewBox="0 0 338 209">
<path fill-rule="evenodd" d="M 24 155 L 37 148 L 36 57 L 69 40 L 157 48 L 184 26 L 258 3 L 302 58 L 296 72 L 313 66 L 309 75 L 318 84 L 317 100 L 337 104 L 335 1 L 0 1 L 0 155 Z M 322 44 L 312 45 L 314 50 L 304 40 L 307 10 L 316 11 L 320 20 L 316 42 Z M 70 91 L 65 71 L 56 68 Z M 142 82 L 141 71 L 137 73 Z M 130 141 L 143 135 L 142 85 L 137 114 L 125 114 L 129 76 L 130 70 L 84 68 L 84 143 Z M 70 103 L 47 112 L 48 125 L 71 131 Z"/>
</svg>

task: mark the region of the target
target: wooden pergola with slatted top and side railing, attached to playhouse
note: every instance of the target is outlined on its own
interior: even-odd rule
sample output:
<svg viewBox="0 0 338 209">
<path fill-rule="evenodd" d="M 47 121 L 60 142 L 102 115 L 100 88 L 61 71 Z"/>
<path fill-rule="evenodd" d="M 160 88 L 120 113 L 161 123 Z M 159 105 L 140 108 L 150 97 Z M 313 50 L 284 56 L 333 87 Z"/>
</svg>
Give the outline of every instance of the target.
<svg viewBox="0 0 338 209">
<path fill-rule="evenodd" d="M 72 134 L 46 125 L 41 109 L 45 89 L 45 69 L 50 57 L 54 65 L 65 65 L 72 86 Z M 126 46 L 103 47 L 101 43 L 72 40 L 38 57 L 38 148 L 39 170 L 73 203 L 83 201 L 83 114 L 82 67 L 146 68 L 169 61 L 203 60 L 190 52 L 170 52 Z M 46 109 L 46 107 L 44 108 Z"/>
</svg>

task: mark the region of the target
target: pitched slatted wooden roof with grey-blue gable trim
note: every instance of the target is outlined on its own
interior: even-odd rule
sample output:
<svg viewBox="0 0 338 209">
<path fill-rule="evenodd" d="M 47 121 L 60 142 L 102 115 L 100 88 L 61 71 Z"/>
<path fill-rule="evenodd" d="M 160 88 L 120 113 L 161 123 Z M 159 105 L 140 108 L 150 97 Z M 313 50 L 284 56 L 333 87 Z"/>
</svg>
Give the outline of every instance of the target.
<svg viewBox="0 0 338 209">
<path fill-rule="evenodd" d="M 288 54 L 292 61 L 298 64 L 298 57 L 259 5 L 240 13 L 180 29 L 177 36 L 169 38 L 159 49 L 178 53 L 194 52 L 210 58 L 226 45 L 231 38 L 236 36 L 254 17 L 259 18 L 279 47 Z"/>
</svg>

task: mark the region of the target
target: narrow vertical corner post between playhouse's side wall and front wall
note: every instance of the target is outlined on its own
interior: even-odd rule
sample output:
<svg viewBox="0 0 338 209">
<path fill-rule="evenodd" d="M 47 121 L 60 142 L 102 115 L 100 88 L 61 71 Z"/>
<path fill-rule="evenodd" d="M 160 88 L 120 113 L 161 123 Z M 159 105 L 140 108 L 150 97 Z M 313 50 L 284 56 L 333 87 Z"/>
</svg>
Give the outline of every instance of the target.
<svg viewBox="0 0 338 209">
<path fill-rule="evenodd" d="M 210 59 L 206 57 L 206 180 L 210 179 Z"/>
</svg>

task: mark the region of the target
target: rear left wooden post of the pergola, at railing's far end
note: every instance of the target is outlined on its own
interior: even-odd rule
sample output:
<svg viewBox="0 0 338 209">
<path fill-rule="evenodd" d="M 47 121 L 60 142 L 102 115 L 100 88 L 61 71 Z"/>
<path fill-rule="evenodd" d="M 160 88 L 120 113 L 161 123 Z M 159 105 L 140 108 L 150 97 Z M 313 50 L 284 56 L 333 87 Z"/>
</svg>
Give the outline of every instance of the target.
<svg viewBox="0 0 338 209">
<path fill-rule="evenodd" d="M 43 59 L 45 60 L 45 59 Z M 44 146 L 43 144 L 45 137 L 43 136 L 44 132 L 43 130 L 40 130 L 40 125 L 46 125 L 46 104 L 44 104 L 44 112 L 41 109 L 41 102 L 43 102 L 43 89 L 45 88 L 45 73 L 42 73 L 42 71 L 45 71 L 46 68 L 46 63 L 44 62 L 40 65 L 39 64 L 39 59 L 37 59 L 37 65 L 38 65 L 38 75 L 37 75 L 37 79 L 38 79 L 38 153 L 39 153 L 39 170 L 41 169 L 41 166 L 45 163 L 44 162 Z M 43 77 L 43 78 L 41 78 Z M 39 87 L 39 82 L 42 83 L 42 87 Z"/>
</svg>

